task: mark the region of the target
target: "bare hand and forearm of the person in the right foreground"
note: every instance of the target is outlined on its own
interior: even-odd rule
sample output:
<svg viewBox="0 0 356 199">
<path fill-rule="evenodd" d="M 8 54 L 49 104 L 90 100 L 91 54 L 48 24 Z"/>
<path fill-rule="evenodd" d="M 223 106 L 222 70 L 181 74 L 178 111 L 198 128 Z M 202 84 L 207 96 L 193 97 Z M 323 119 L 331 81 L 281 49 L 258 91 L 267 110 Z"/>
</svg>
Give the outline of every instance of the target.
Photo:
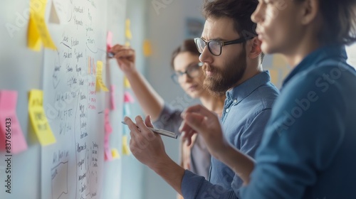
<svg viewBox="0 0 356 199">
<path fill-rule="evenodd" d="M 189 107 L 182 113 L 184 124 L 181 131 L 188 138 L 197 132 L 204 137 L 206 146 L 212 156 L 229 166 L 244 183 L 248 183 L 254 168 L 254 161 L 249 156 L 242 154 L 224 139 L 219 118 L 213 112 L 201 105 Z M 183 138 L 184 138 L 183 137 Z"/>
</svg>

